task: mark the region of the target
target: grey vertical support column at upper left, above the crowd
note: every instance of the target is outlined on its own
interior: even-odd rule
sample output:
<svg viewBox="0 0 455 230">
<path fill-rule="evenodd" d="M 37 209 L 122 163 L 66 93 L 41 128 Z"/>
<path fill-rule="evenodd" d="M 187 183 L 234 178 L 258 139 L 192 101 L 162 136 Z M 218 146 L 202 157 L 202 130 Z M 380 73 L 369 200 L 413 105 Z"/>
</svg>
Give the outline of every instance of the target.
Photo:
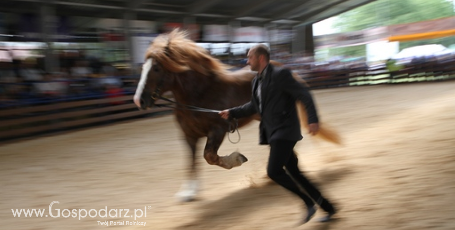
<svg viewBox="0 0 455 230">
<path fill-rule="evenodd" d="M 54 16 L 54 7 L 51 0 L 42 0 L 40 6 L 41 18 L 41 41 L 46 44 L 45 50 L 45 71 L 59 71 L 58 59 L 53 55 L 52 40 L 55 37 L 56 19 Z"/>
</svg>

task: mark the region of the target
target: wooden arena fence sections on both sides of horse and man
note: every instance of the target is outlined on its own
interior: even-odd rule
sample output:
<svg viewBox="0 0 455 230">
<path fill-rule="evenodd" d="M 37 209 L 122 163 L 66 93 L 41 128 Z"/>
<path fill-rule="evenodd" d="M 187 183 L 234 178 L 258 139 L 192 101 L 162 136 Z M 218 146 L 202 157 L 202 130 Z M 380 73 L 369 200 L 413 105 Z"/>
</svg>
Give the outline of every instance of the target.
<svg viewBox="0 0 455 230">
<path fill-rule="evenodd" d="M 425 63 L 389 72 L 385 67 L 313 71 L 302 74 L 312 89 L 377 84 L 447 81 L 455 79 L 455 60 Z M 173 98 L 168 93 L 165 96 Z M 157 101 L 163 103 L 164 101 Z M 126 119 L 172 112 L 169 108 L 138 110 L 133 95 L 78 99 L 76 101 L 23 104 L 0 108 L 0 142 L 53 134 L 75 128 L 112 124 Z"/>
</svg>

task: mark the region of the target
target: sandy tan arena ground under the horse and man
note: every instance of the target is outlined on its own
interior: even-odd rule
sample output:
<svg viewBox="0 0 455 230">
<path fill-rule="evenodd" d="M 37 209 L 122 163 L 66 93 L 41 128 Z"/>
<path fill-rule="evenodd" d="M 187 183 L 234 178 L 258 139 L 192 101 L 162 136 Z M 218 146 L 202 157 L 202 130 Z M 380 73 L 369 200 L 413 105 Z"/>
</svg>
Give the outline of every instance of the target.
<svg viewBox="0 0 455 230">
<path fill-rule="evenodd" d="M 270 183 L 258 123 L 227 139 L 220 155 L 249 161 L 208 165 L 199 143 L 201 192 L 180 203 L 188 152 L 172 115 L 0 146 L 0 229 L 96 230 L 454 230 L 455 82 L 314 91 L 320 118 L 344 146 L 305 135 L 299 164 L 340 209 L 335 221 L 296 227 L 298 198 Z M 232 140 L 237 136 L 231 135 Z M 14 217 L 11 209 L 135 209 L 146 217 Z M 67 216 L 69 211 L 61 215 Z M 78 212 L 78 211 L 75 211 Z M 140 212 L 136 211 L 137 216 Z M 94 211 L 91 212 L 94 215 Z M 316 218 L 322 215 L 318 211 Z M 35 215 L 35 214 L 34 214 Z M 112 213 L 115 216 L 115 210 Z"/>
</svg>

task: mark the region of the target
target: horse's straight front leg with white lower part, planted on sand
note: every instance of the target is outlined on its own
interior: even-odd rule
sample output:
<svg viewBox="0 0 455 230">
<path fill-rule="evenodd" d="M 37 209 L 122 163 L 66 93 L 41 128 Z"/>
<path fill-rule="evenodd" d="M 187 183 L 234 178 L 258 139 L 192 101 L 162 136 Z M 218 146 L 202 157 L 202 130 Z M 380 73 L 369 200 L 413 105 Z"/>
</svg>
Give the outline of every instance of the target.
<svg viewBox="0 0 455 230">
<path fill-rule="evenodd" d="M 196 144 L 199 138 L 190 137 L 189 135 L 185 136 L 186 143 L 188 144 L 191 155 L 189 158 L 189 170 L 188 170 L 188 179 L 182 184 L 180 191 L 177 192 L 176 196 L 181 201 L 192 201 L 196 198 L 199 182 L 197 180 L 197 170 L 196 170 Z"/>
</svg>

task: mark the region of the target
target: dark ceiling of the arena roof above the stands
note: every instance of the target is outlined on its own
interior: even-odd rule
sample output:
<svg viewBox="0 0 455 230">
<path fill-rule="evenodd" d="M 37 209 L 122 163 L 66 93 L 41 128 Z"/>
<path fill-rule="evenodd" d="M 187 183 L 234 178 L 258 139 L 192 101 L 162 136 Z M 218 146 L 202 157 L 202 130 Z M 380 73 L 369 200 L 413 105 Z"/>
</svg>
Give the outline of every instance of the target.
<svg viewBox="0 0 455 230">
<path fill-rule="evenodd" d="M 40 13 L 50 4 L 52 13 L 78 18 L 74 28 L 83 32 L 99 18 L 183 22 L 200 25 L 266 26 L 292 28 L 311 25 L 374 0 L 1 0 L 0 12 Z"/>
</svg>

